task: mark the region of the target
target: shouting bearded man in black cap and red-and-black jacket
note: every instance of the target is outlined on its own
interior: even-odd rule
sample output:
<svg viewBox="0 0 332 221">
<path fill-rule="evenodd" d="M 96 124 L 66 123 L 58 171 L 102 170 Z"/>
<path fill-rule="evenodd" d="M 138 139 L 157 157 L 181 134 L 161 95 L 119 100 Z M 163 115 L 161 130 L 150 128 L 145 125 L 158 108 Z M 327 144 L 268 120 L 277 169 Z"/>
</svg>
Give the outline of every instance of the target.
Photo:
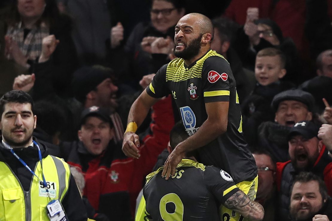
<svg viewBox="0 0 332 221">
<path fill-rule="evenodd" d="M 277 163 L 280 220 L 289 220 L 290 187 L 294 176 L 309 171 L 325 181 L 332 195 L 332 159 L 318 136 L 319 126 L 311 121 L 300 121 L 288 134 L 290 161 Z"/>
</svg>

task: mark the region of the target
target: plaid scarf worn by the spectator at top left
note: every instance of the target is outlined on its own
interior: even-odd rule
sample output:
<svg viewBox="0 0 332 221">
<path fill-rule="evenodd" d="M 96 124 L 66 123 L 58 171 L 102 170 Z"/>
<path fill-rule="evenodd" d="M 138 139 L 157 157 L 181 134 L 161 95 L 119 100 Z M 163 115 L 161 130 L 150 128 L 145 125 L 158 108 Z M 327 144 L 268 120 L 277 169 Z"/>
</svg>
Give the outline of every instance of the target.
<svg viewBox="0 0 332 221">
<path fill-rule="evenodd" d="M 7 30 L 7 36 L 17 42 L 17 45 L 21 49 L 22 53 L 29 60 L 35 60 L 41 55 L 42 39 L 48 35 L 49 28 L 43 22 L 39 27 L 35 26 L 32 28 L 25 39 L 22 22 L 16 24 L 15 26 L 9 27 Z"/>
</svg>

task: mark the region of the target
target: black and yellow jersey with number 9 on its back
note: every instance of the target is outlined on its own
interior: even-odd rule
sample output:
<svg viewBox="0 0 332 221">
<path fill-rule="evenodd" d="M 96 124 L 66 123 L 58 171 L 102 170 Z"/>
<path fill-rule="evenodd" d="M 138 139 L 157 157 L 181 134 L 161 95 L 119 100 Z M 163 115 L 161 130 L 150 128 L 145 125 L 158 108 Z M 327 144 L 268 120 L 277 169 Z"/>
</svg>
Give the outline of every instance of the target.
<svg viewBox="0 0 332 221">
<path fill-rule="evenodd" d="M 225 171 L 182 159 L 169 180 L 160 167 L 146 177 L 143 196 L 153 220 L 218 221 L 218 207 L 239 188 Z"/>
</svg>

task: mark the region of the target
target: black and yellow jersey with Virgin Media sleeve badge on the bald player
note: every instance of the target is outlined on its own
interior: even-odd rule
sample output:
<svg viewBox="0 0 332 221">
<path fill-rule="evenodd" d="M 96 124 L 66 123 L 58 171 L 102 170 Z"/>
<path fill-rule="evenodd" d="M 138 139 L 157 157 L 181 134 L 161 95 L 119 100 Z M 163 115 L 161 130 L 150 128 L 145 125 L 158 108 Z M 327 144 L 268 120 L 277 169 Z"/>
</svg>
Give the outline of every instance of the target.
<svg viewBox="0 0 332 221">
<path fill-rule="evenodd" d="M 227 131 L 198 149 L 198 161 L 222 168 L 235 183 L 256 177 L 256 163 L 242 135 L 235 80 L 222 55 L 210 50 L 189 67 L 176 58 L 159 69 L 146 91 L 155 98 L 173 95 L 189 135 L 206 121 L 205 103 L 229 101 Z"/>
</svg>

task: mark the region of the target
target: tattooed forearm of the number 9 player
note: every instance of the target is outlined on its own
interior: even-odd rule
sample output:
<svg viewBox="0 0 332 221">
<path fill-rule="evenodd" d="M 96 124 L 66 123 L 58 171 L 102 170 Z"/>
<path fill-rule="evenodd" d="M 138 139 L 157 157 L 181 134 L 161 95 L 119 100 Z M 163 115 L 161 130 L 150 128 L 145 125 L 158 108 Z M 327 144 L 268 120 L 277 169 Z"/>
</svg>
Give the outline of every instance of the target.
<svg viewBox="0 0 332 221">
<path fill-rule="evenodd" d="M 263 206 L 258 202 L 250 200 L 241 190 L 229 197 L 224 203 L 224 206 L 240 213 L 251 221 L 261 221 L 264 217 Z"/>
</svg>

